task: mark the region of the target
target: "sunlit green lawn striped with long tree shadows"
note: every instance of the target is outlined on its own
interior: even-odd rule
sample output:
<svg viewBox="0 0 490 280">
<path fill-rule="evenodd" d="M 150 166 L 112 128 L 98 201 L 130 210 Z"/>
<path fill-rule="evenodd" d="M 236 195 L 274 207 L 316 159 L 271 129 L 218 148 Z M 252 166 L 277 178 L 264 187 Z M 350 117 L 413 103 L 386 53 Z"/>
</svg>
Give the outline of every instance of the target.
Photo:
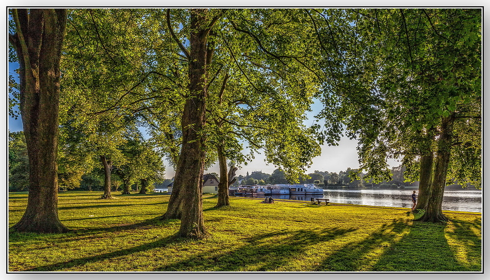
<svg viewBox="0 0 490 280">
<path fill-rule="evenodd" d="M 168 194 L 59 194 L 64 234 L 9 233 L 9 271 L 481 271 L 481 215 L 448 211 L 447 225 L 408 208 L 203 199 L 210 237 L 174 239 L 158 219 Z M 9 195 L 9 227 L 27 193 Z"/>
</svg>

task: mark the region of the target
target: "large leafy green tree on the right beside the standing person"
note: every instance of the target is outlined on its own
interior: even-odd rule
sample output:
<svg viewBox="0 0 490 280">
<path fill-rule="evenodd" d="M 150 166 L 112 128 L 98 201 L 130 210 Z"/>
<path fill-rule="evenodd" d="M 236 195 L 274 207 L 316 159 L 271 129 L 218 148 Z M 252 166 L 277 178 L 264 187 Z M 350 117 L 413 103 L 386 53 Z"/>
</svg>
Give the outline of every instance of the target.
<svg viewBox="0 0 490 280">
<path fill-rule="evenodd" d="M 451 156 L 454 126 L 481 116 L 481 10 L 356 9 L 346 19 L 353 43 L 344 80 L 351 93 L 343 96 L 342 115 L 359 139 L 361 168 L 376 180 L 390 179 L 389 157 L 402 159 L 409 174 L 419 168 L 427 196 L 419 220 L 446 221 L 441 203 L 453 179 L 449 166 L 463 160 Z M 460 151 L 480 146 L 475 130 L 458 131 L 467 140 Z M 473 171 L 466 175 L 479 178 Z"/>
</svg>

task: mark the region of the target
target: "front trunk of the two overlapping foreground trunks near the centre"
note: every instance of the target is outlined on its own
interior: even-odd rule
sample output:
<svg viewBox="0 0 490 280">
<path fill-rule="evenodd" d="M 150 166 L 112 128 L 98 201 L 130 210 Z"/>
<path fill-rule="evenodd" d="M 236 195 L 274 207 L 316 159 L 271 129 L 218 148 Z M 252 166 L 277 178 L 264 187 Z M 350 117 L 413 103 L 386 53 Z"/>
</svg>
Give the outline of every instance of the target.
<svg viewBox="0 0 490 280">
<path fill-rule="evenodd" d="M 192 50 L 189 59 L 191 98 L 186 101 L 182 114 L 183 144 L 172 190 L 174 203 L 178 203 L 175 205 L 178 208 L 173 209 L 174 213 L 164 215 L 169 218 L 172 214 L 178 215 L 180 212 L 180 229 L 176 236 L 185 238 L 203 238 L 207 235 L 202 213 L 202 176 L 206 153 L 203 134 L 207 98 L 206 47 L 209 32 L 206 15 L 206 9 L 191 10 L 192 31 L 189 37 Z M 183 203 L 185 207 L 182 207 Z"/>
</svg>

